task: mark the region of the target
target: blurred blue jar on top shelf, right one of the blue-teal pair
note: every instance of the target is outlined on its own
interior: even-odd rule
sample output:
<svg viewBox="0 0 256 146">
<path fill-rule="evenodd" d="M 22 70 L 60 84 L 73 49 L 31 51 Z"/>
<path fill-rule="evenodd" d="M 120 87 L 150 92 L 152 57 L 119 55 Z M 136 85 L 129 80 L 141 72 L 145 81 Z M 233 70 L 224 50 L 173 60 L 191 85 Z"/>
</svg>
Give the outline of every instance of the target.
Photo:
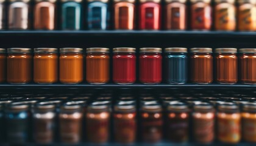
<svg viewBox="0 0 256 146">
<path fill-rule="evenodd" d="M 106 30 L 108 18 L 108 0 L 88 0 L 87 23 L 89 30 Z"/>
</svg>

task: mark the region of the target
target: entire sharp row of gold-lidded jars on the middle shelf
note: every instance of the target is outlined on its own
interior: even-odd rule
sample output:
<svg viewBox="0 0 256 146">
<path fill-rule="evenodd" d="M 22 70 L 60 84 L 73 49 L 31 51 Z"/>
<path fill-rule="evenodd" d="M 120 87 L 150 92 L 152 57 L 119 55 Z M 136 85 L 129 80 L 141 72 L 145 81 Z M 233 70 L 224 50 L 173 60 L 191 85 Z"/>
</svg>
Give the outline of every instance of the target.
<svg viewBox="0 0 256 146">
<path fill-rule="evenodd" d="M 0 52 L 1 82 L 5 82 L 5 76 L 12 84 L 30 83 L 33 77 L 34 82 L 40 84 L 59 81 L 76 84 L 83 82 L 84 78 L 91 84 L 110 82 L 108 48 L 87 48 L 86 55 L 82 48 L 36 48 L 34 58 L 29 48 L 7 49 L 7 56 L 5 49 L 0 49 Z M 132 47 L 113 49 L 114 83 L 135 83 L 138 65 L 138 80 L 144 84 L 165 82 L 180 85 L 187 83 L 189 77 L 193 83 L 209 84 L 213 82 L 215 72 L 216 82 L 232 85 L 238 82 L 238 68 L 242 83 L 256 84 L 256 49 L 240 49 L 237 55 L 235 48 L 217 48 L 213 55 L 212 48 L 191 48 L 188 54 L 187 48 L 169 47 L 162 55 L 161 48 L 144 47 L 140 48 L 138 63 L 135 53 L 136 49 Z"/>
</svg>

